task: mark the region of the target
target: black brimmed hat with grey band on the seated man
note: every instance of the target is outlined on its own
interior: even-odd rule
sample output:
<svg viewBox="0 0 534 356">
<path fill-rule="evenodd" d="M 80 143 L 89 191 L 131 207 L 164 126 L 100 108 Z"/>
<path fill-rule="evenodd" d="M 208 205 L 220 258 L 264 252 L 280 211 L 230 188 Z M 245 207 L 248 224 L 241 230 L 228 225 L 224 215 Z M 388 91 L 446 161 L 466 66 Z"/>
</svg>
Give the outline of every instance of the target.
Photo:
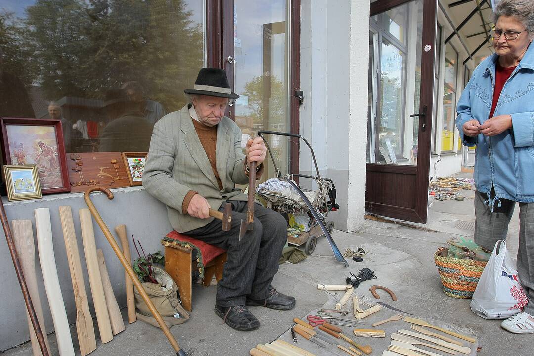
<svg viewBox="0 0 534 356">
<path fill-rule="evenodd" d="M 186 89 L 184 93 L 228 99 L 239 98 L 238 94 L 232 93 L 226 72 L 221 68 L 200 69 L 193 89 Z"/>
</svg>

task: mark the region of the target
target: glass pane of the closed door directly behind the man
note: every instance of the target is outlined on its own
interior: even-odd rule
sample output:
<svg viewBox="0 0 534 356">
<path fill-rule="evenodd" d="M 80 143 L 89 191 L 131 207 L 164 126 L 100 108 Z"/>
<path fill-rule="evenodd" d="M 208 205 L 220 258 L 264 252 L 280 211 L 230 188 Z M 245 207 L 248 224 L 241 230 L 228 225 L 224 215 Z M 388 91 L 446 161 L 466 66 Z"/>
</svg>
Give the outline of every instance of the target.
<svg viewBox="0 0 534 356">
<path fill-rule="evenodd" d="M 243 132 L 242 147 L 259 130 L 289 132 L 289 22 L 288 0 L 233 0 L 223 2 L 225 14 L 233 13 L 233 33 L 224 67 L 233 77 L 235 101 L 230 112 Z M 230 31 L 227 31 L 230 32 Z M 231 39 L 230 39 L 231 38 Z M 289 145 L 285 137 L 268 136 L 278 169 L 288 172 Z M 271 157 L 265 160 L 262 179 L 276 176 Z"/>
</svg>

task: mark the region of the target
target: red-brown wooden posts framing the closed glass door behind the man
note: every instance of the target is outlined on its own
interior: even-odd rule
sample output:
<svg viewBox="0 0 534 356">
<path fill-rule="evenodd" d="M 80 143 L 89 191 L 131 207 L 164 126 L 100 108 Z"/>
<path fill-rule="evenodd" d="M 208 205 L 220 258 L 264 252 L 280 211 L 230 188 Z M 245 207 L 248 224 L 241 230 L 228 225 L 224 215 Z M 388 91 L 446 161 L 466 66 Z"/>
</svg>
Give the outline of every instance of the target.
<svg viewBox="0 0 534 356">
<path fill-rule="evenodd" d="M 223 6 L 223 1 L 224 5 Z M 287 0 L 291 9 L 289 46 L 289 132 L 299 135 L 300 101 L 296 92 L 300 90 L 300 4 L 301 0 Z M 231 5 L 231 6 L 230 6 Z M 233 86 L 234 72 L 227 57 L 234 53 L 233 0 L 206 0 L 206 66 L 226 70 L 228 81 Z M 233 57 L 233 56 L 232 56 Z M 233 89 L 233 88 L 232 88 Z M 234 120 L 231 110 L 230 118 Z M 289 172 L 299 173 L 300 140 L 289 142 Z"/>
</svg>

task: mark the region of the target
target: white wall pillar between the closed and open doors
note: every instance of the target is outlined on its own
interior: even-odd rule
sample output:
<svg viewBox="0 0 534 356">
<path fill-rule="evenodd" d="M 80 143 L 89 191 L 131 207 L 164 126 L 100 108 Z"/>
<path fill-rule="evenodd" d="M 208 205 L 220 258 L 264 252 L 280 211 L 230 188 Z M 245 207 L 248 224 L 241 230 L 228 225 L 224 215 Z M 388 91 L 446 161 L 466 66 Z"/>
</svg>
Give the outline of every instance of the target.
<svg viewBox="0 0 534 356">
<path fill-rule="evenodd" d="M 343 231 L 365 215 L 368 13 L 368 0 L 301 2 L 301 135 L 334 181 L 340 210 L 328 218 Z M 308 148 L 300 151 L 301 172 L 315 174 Z"/>
</svg>

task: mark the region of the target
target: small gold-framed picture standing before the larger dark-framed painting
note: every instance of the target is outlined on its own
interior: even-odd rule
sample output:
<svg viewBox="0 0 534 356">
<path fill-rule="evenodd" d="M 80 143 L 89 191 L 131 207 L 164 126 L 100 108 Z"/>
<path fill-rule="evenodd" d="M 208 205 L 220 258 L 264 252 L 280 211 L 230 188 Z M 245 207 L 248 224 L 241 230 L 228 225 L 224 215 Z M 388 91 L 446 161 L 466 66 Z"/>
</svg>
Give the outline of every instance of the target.
<svg viewBox="0 0 534 356">
<path fill-rule="evenodd" d="M 9 201 L 42 196 L 36 164 L 4 165 L 4 175 Z"/>
</svg>

